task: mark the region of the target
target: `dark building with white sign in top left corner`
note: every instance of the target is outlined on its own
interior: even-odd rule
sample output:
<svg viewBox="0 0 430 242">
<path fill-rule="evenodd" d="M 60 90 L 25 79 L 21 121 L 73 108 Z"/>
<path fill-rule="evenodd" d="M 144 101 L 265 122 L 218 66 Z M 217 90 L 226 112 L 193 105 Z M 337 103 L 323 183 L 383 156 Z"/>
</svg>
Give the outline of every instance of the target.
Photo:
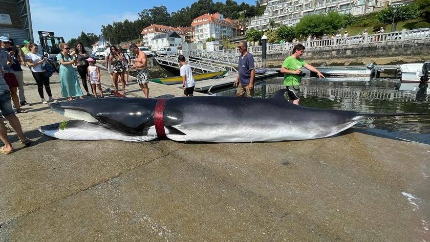
<svg viewBox="0 0 430 242">
<path fill-rule="evenodd" d="M 29 0 L 0 0 L 0 36 L 14 44 L 34 43 Z"/>
</svg>

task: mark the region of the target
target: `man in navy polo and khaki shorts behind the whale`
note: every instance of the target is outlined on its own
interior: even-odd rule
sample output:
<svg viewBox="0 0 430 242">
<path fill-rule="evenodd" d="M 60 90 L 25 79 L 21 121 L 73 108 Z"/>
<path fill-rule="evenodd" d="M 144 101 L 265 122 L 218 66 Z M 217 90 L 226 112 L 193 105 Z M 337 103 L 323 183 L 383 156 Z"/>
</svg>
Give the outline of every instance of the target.
<svg viewBox="0 0 430 242">
<path fill-rule="evenodd" d="M 247 48 L 248 44 L 246 41 L 240 41 L 237 44 L 237 49 L 240 52 L 237 68 L 239 74 L 233 84 L 234 87 L 237 87 L 237 97 L 252 97 L 254 95 L 254 57 L 247 51 Z"/>
</svg>

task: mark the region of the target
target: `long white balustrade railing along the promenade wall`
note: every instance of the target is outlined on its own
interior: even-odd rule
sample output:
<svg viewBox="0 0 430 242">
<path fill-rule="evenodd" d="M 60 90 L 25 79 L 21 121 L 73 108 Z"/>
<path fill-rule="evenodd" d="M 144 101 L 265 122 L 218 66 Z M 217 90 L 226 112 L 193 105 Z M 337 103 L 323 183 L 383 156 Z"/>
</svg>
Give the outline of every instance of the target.
<svg viewBox="0 0 430 242">
<path fill-rule="evenodd" d="M 374 45 L 374 44 L 402 44 L 405 41 L 424 41 L 430 42 L 430 28 L 402 30 L 396 32 L 387 32 L 382 34 L 365 34 L 355 35 L 350 37 L 321 39 L 321 40 L 308 40 L 296 43 L 284 44 L 270 44 L 267 45 L 268 53 L 281 53 L 291 51 L 296 44 L 302 44 L 306 49 L 310 48 L 337 48 L 348 47 L 352 45 Z M 261 53 L 261 46 L 248 47 L 248 51 L 253 54 Z M 237 49 L 218 50 L 216 52 L 223 52 L 228 54 L 238 54 Z"/>
</svg>

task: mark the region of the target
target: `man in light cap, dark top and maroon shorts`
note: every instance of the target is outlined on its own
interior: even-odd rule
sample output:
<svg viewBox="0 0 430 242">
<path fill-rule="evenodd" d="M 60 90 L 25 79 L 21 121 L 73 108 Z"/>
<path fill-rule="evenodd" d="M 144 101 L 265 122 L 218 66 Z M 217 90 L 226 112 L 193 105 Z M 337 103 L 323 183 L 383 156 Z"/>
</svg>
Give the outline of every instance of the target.
<svg viewBox="0 0 430 242">
<path fill-rule="evenodd" d="M 8 49 L 10 47 L 11 41 L 5 36 L 0 36 L 0 42 L 0 65 L 3 69 L 3 78 L 6 81 L 6 84 L 9 86 L 10 97 L 12 98 L 17 112 L 26 113 L 27 110 L 21 109 L 20 99 L 17 95 L 17 90 L 20 86 L 18 79 L 16 78 L 13 69 L 10 67 L 12 65 L 12 59 L 10 58 Z"/>
</svg>

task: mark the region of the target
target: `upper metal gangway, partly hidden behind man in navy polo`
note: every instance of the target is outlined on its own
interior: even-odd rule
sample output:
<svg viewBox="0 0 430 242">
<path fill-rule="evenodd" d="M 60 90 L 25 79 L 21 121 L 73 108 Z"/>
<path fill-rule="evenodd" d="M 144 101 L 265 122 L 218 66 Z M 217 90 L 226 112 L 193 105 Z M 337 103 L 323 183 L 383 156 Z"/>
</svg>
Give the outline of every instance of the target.
<svg viewBox="0 0 430 242">
<path fill-rule="evenodd" d="M 210 51 L 204 49 L 190 49 L 190 56 L 208 62 L 216 62 L 229 66 L 237 66 L 240 53 L 228 53 L 222 51 Z M 254 56 L 254 65 L 261 67 L 261 58 Z"/>
</svg>

